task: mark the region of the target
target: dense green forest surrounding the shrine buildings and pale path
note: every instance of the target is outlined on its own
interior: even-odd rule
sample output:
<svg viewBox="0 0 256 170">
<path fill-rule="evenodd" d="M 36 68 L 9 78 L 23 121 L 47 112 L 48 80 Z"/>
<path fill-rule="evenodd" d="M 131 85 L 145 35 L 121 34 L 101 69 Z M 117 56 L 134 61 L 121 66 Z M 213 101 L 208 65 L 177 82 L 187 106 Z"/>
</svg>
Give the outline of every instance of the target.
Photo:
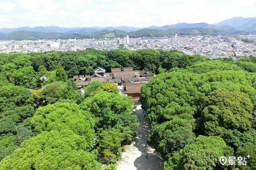
<svg viewBox="0 0 256 170">
<path fill-rule="evenodd" d="M 100 170 L 98 160 L 115 169 L 116 153 L 138 134 L 138 119 L 115 84 L 93 81 L 78 91 L 73 75 L 98 67 L 152 75 L 140 100 L 152 126 L 148 144 L 165 170 L 256 169 L 256 57 L 87 48 L 0 53 L 0 170 Z M 219 162 L 248 154 L 246 166 Z"/>
</svg>

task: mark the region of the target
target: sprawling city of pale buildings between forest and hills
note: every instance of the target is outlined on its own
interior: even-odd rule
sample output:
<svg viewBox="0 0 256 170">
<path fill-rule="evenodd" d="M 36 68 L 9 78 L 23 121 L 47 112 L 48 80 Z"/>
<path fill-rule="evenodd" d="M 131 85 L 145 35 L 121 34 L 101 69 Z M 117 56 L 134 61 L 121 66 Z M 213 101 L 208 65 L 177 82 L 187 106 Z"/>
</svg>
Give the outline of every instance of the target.
<svg viewBox="0 0 256 170">
<path fill-rule="evenodd" d="M 241 39 L 249 39 L 254 43 L 245 43 Z M 211 59 L 220 57 L 256 56 L 256 35 L 238 36 L 173 36 L 173 37 L 141 37 L 95 39 L 67 39 L 67 40 L 23 40 L 0 41 L 1 53 L 32 53 L 47 51 L 80 51 L 86 48 L 98 50 L 112 50 L 126 48 L 130 51 L 139 49 L 179 50 L 187 55 L 206 55 Z M 232 44 L 234 47 L 231 47 Z"/>
</svg>

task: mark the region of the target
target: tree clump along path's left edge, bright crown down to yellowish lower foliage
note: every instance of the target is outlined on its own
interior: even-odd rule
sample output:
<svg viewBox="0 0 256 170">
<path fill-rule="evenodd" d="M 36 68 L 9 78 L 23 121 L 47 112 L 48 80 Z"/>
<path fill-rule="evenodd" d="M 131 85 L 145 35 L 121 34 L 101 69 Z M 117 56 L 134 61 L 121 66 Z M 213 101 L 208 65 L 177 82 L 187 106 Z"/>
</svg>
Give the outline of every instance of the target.
<svg viewBox="0 0 256 170">
<path fill-rule="evenodd" d="M 94 115 L 102 159 L 108 164 L 116 163 L 116 152 L 121 153 L 123 143 L 132 140 L 138 133 L 137 116 L 132 114 L 132 101 L 128 97 L 103 91 L 85 98 L 79 106 Z"/>
</svg>

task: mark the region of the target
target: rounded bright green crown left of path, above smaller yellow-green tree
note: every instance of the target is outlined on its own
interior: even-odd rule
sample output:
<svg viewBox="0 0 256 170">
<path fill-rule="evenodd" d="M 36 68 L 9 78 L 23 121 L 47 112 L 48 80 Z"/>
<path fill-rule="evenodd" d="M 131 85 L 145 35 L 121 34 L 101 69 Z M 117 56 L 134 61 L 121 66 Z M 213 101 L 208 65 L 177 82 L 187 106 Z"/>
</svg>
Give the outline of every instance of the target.
<svg viewBox="0 0 256 170">
<path fill-rule="evenodd" d="M 127 139 L 137 134 L 137 116 L 132 115 L 132 101 L 128 97 L 103 91 L 87 97 L 79 106 L 95 115 L 97 131 L 122 127 Z"/>
</svg>

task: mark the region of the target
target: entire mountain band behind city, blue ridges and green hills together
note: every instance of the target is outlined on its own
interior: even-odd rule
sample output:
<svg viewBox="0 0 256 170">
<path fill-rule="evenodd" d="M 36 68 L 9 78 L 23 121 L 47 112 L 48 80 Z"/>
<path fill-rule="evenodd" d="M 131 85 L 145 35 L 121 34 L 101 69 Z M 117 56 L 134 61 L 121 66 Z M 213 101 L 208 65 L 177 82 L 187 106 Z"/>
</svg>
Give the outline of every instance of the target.
<svg viewBox="0 0 256 170">
<path fill-rule="evenodd" d="M 132 26 L 108 26 L 108 27 L 58 27 L 38 26 L 19 28 L 0 28 L 0 40 L 37 40 L 37 39 L 68 39 L 68 38 L 105 38 L 111 33 L 111 37 L 163 37 L 182 35 L 230 35 L 230 34 L 256 34 L 256 17 L 234 17 L 217 24 L 178 23 L 175 25 L 149 26 L 136 28 Z M 114 34 L 113 34 L 114 33 Z M 104 36 L 106 35 L 106 36 Z"/>
</svg>

